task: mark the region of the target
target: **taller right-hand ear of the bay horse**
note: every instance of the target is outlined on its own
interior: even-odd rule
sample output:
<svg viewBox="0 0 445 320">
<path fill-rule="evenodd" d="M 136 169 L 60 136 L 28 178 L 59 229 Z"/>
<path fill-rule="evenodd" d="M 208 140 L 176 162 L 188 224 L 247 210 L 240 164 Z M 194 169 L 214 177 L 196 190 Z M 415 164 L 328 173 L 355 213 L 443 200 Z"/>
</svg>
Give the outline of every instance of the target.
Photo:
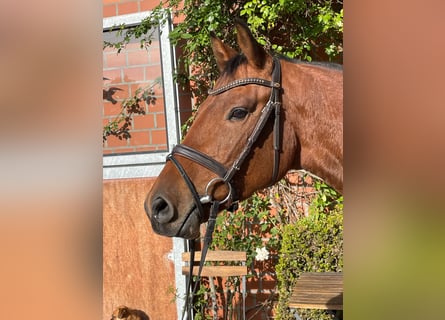
<svg viewBox="0 0 445 320">
<path fill-rule="evenodd" d="M 263 68 L 268 56 L 266 50 L 264 50 L 264 48 L 255 40 L 252 32 L 250 32 L 249 27 L 244 21 L 236 19 L 235 27 L 237 31 L 238 45 L 246 56 L 249 64 L 259 69 Z"/>
</svg>

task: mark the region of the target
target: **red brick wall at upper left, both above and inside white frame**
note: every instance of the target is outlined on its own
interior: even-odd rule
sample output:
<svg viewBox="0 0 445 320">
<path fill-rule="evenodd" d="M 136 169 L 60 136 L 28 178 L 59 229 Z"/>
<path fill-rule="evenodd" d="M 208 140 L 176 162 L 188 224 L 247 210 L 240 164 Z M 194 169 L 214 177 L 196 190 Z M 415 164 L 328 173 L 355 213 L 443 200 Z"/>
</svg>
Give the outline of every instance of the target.
<svg viewBox="0 0 445 320">
<path fill-rule="evenodd" d="M 103 0 L 103 16 L 112 17 L 122 14 L 138 13 L 153 9 L 159 0 Z M 179 53 L 180 54 L 180 53 Z M 170 63 L 170 62 L 166 62 Z M 122 110 L 122 101 L 134 95 L 137 88 L 152 84 L 161 76 L 161 55 L 159 42 L 156 39 L 144 49 L 139 41 L 128 44 L 118 54 L 116 49 L 103 51 L 104 89 L 116 87 L 113 98 L 118 101 L 112 104 L 104 100 L 103 125 L 116 118 Z M 164 92 L 162 86 L 155 87 L 156 104 L 143 104 L 145 115 L 135 115 L 130 130 L 131 138 L 119 140 L 109 136 L 104 143 L 104 154 L 122 154 L 128 152 L 147 152 L 167 150 L 167 129 L 164 111 Z M 178 93 L 180 121 L 184 123 L 191 116 L 191 96 L 188 90 Z"/>
</svg>

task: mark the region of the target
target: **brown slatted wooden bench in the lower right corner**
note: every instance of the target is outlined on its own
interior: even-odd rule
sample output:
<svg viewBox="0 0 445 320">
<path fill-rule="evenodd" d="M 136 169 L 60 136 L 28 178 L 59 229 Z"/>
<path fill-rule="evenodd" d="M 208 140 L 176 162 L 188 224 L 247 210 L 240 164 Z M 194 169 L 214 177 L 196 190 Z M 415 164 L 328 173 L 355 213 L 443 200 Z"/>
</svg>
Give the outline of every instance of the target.
<svg viewBox="0 0 445 320">
<path fill-rule="evenodd" d="M 302 273 L 289 299 L 289 307 L 343 310 L 343 273 Z"/>
</svg>

